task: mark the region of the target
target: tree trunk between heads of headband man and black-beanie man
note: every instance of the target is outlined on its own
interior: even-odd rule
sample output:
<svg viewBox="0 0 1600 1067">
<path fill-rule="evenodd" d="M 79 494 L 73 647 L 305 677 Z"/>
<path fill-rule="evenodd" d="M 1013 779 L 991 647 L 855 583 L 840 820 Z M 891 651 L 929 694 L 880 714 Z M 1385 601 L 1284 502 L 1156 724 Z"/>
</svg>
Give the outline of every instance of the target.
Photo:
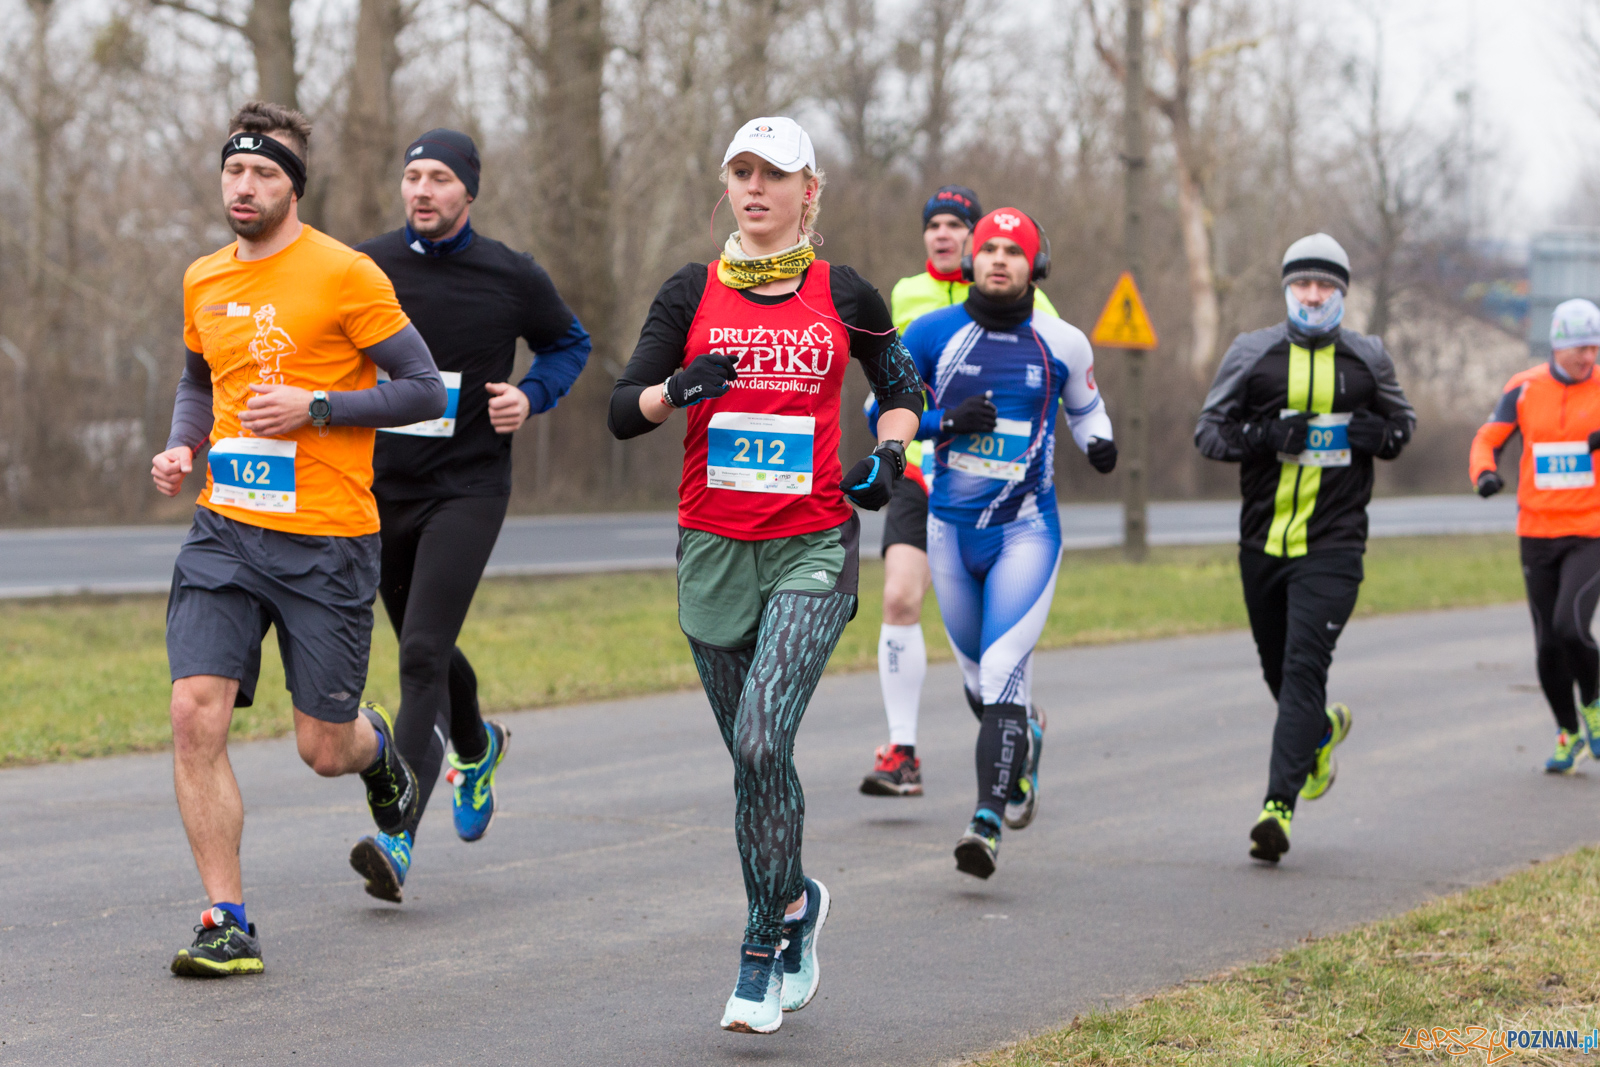
<svg viewBox="0 0 1600 1067">
<path fill-rule="evenodd" d="M 339 211 L 342 237 L 350 243 L 389 229 L 395 214 L 398 158 L 395 157 L 394 80 L 400 67 L 395 38 L 405 29 L 400 0 L 362 0 L 355 19 L 355 59 L 350 66 L 350 102 L 344 115 Z"/>
</svg>

